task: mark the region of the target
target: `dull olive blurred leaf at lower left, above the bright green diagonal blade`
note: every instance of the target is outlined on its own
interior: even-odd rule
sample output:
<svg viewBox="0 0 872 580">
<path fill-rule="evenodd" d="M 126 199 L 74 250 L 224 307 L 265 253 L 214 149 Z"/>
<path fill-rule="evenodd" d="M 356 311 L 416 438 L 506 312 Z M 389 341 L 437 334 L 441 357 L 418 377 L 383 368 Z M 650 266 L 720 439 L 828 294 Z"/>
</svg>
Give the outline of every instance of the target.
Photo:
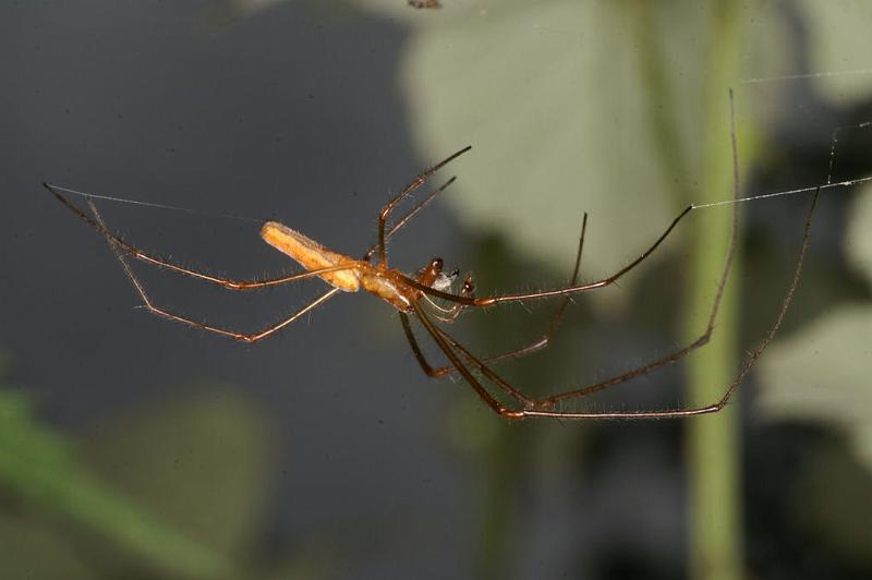
<svg viewBox="0 0 872 580">
<path fill-rule="evenodd" d="M 220 554 L 241 558 L 267 503 L 271 444 L 251 400 L 210 385 L 100 423 L 83 449 L 137 500 Z"/>
</svg>

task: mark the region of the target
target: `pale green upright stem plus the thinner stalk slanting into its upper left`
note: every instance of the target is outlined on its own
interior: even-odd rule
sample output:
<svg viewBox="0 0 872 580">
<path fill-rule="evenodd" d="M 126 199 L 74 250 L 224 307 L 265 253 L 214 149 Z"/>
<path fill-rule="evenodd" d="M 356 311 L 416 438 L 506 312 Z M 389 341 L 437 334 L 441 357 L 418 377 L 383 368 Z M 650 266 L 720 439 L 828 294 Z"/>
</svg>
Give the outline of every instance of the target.
<svg viewBox="0 0 872 580">
<path fill-rule="evenodd" d="M 644 2 L 637 5 L 640 69 L 643 86 L 651 104 L 649 118 L 665 176 L 678 188 L 681 204 L 720 201 L 732 192 L 732 155 L 730 150 L 728 88 L 739 78 L 740 31 L 735 3 L 713 4 L 707 19 L 702 98 L 702 149 L 699 164 L 682 147 L 679 126 L 687 122 L 671 89 L 661 36 L 656 29 L 656 8 Z M 661 107 L 655 109 L 654 104 Z M 698 132 L 700 133 L 700 132 Z M 692 168 L 701 170 L 694 176 Z M 702 183 L 703 188 L 690 188 Z M 688 227 L 692 230 L 692 257 L 688 287 L 685 289 L 689 313 L 683 334 L 693 340 L 707 323 L 716 283 L 728 251 L 731 230 L 731 207 L 697 212 Z M 739 319 L 737 285 L 740 279 L 738 255 L 712 341 L 688 359 L 688 400 L 692 404 L 716 401 L 732 379 L 736 368 L 736 343 Z M 734 402 L 737 399 L 734 398 Z M 742 521 L 740 494 L 740 425 L 737 406 L 717 415 L 688 422 L 688 463 L 690 475 L 690 577 L 697 579 L 735 580 L 742 577 Z"/>
</svg>

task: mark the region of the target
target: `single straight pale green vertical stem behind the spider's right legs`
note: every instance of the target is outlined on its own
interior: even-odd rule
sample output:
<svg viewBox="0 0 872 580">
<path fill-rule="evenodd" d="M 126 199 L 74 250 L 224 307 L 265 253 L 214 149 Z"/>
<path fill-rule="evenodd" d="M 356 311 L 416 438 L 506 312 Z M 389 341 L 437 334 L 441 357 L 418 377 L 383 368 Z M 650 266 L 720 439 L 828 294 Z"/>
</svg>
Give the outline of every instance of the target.
<svg viewBox="0 0 872 580">
<path fill-rule="evenodd" d="M 739 78 L 741 47 L 738 4 L 713 7 L 707 35 L 707 72 L 703 97 L 702 176 L 697 203 L 724 198 L 731 192 L 732 168 L 727 88 Z M 699 212 L 694 216 L 693 256 L 687 290 L 686 333 L 697 336 L 704 327 L 707 304 L 727 253 L 731 208 Z M 732 264 L 712 341 L 688 362 L 688 400 L 703 404 L 717 400 L 736 371 L 739 294 L 736 280 L 741 264 Z M 716 415 L 688 422 L 690 475 L 690 577 L 736 580 L 742 577 L 742 504 L 740 493 L 740 416 L 734 404 Z"/>
</svg>

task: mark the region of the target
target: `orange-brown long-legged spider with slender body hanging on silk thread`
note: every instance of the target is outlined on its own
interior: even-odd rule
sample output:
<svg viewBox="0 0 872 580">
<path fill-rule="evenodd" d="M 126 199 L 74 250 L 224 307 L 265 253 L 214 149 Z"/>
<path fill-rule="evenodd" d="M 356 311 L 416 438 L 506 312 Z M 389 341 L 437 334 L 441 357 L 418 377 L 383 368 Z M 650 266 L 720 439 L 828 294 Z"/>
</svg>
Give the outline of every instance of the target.
<svg viewBox="0 0 872 580">
<path fill-rule="evenodd" d="M 450 162 L 451 160 L 456 159 L 457 157 L 467 153 L 470 149 L 471 146 L 464 147 L 463 149 L 460 149 L 459 152 L 449 156 L 445 160 L 427 169 L 426 171 L 421 173 L 417 178 L 415 178 L 414 181 L 412 181 L 404 190 L 402 190 L 399 194 L 397 194 L 392 200 L 388 202 L 387 205 L 385 205 L 382 208 L 382 212 L 378 215 L 378 241 L 363 254 L 361 259 L 354 259 L 352 257 L 327 250 L 320 244 L 306 238 L 302 233 L 299 233 L 281 223 L 275 221 L 267 221 L 266 223 L 263 225 L 263 228 L 261 230 L 262 238 L 277 250 L 283 252 L 284 254 L 289 255 L 298 263 L 300 263 L 306 269 L 306 271 L 290 276 L 283 276 L 279 278 L 270 278 L 262 280 L 233 280 L 229 278 L 222 278 L 209 274 L 204 274 L 202 271 L 193 270 L 184 266 L 181 266 L 178 263 L 170 262 L 168 259 L 162 259 L 160 257 L 156 257 L 153 254 L 143 252 L 142 250 L 122 240 L 121 237 L 113 233 L 106 227 L 99 213 L 97 212 L 96 206 L 94 205 L 94 202 L 90 198 L 88 198 L 87 205 L 90 209 L 92 215 L 88 215 L 83 209 L 72 204 L 61 193 L 62 189 L 49 185 L 48 183 L 45 183 L 44 185 L 49 192 L 51 192 L 52 195 L 55 195 L 55 197 L 57 197 L 80 219 L 82 219 L 83 221 L 88 223 L 92 228 L 94 228 L 95 230 L 97 230 L 98 232 L 100 232 L 106 237 L 107 241 L 109 242 L 109 245 L 112 247 L 119 261 L 121 262 L 124 273 L 133 283 L 134 288 L 136 289 L 136 292 L 140 294 L 140 298 L 145 307 L 154 314 L 157 314 L 165 318 L 169 318 L 171 321 L 175 321 L 178 323 L 182 323 L 209 333 L 230 337 L 232 339 L 242 342 L 257 342 L 269 336 L 275 335 L 286 326 L 290 325 L 291 323 L 300 318 L 302 315 L 306 314 L 307 312 L 311 312 L 316 306 L 325 303 L 340 291 L 354 292 L 360 289 L 364 289 L 367 292 L 371 292 L 377 295 L 378 298 L 382 298 L 383 300 L 385 300 L 391 306 L 396 307 L 399 311 L 400 322 L 402 323 L 402 328 L 405 338 L 409 341 L 409 345 L 412 349 L 412 352 L 415 355 L 415 359 L 417 360 L 419 364 L 428 376 L 439 377 L 451 373 L 459 373 L 467 380 L 467 383 L 469 383 L 469 385 L 475 390 L 475 392 L 482 398 L 482 400 L 484 400 L 491 407 L 491 409 L 493 409 L 495 412 L 507 419 L 523 419 L 528 416 L 552 416 L 552 418 L 562 418 L 562 419 L 657 419 L 657 418 L 679 418 L 679 416 L 690 416 L 690 415 L 699 415 L 705 413 L 715 413 L 722 410 L 727 404 L 727 402 L 729 401 L 732 394 L 736 391 L 739 384 L 750 372 L 751 367 L 755 364 L 756 360 L 760 358 L 763 350 L 772 341 L 776 331 L 782 325 L 785 314 L 787 313 L 787 310 L 790 305 L 794 293 L 796 291 L 797 285 L 799 282 L 799 277 L 802 269 L 802 263 L 809 244 L 811 221 L 814 213 L 814 206 L 818 201 L 818 195 L 820 194 L 820 188 L 818 188 L 818 190 L 814 192 L 811 208 L 809 209 L 802 234 L 802 246 L 797 257 L 792 279 L 788 285 L 787 292 L 782 302 L 780 311 L 778 312 L 778 315 L 773 326 L 770 328 L 770 331 L 767 333 L 762 343 L 758 347 L 755 351 L 753 351 L 749 355 L 749 358 L 746 360 L 744 364 L 739 371 L 739 374 L 736 376 L 732 383 L 730 383 L 728 386 L 725 387 L 725 391 L 720 397 L 720 399 L 703 407 L 686 407 L 686 408 L 664 409 L 664 410 L 585 411 L 585 412 L 565 411 L 557 408 L 558 403 L 562 403 L 568 400 L 581 399 L 593 392 L 597 392 L 600 390 L 606 389 L 619 383 L 625 383 L 631 378 L 649 374 L 657 368 L 661 368 L 663 366 L 666 366 L 670 363 L 674 363 L 682 359 L 683 357 L 688 355 L 695 349 L 708 342 L 714 331 L 714 325 L 717 318 L 720 300 L 723 298 L 724 288 L 729 277 L 732 256 L 736 251 L 736 242 L 738 237 L 737 204 L 734 204 L 732 232 L 729 242 L 729 250 L 727 252 L 724 269 L 717 285 L 717 292 L 712 303 L 712 310 L 708 315 L 708 323 L 704 331 L 695 340 L 681 348 L 676 349 L 675 351 L 670 352 L 669 354 L 666 354 L 665 357 L 651 361 L 635 368 L 631 368 L 622 374 L 607 378 L 605 380 L 588 385 L 583 388 L 567 390 L 544 398 L 531 398 L 524 395 L 518 388 L 510 385 L 504 378 L 501 378 L 492 368 L 491 364 L 497 361 L 530 354 L 532 352 L 545 348 L 548 345 L 549 340 L 552 339 L 552 336 L 554 335 L 558 325 L 560 324 L 564 313 L 567 309 L 568 302 L 573 294 L 580 292 L 586 292 L 590 290 L 595 290 L 598 288 L 605 288 L 607 286 L 615 283 L 619 278 L 621 278 L 627 273 L 631 271 L 644 259 L 646 259 L 663 243 L 663 241 L 669 235 L 669 233 L 673 232 L 673 230 L 676 228 L 679 221 L 681 221 L 688 214 L 690 214 L 698 206 L 690 205 L 686 207 L 669 223 L 666 230 L 654 241 L 654 243 L 652 243 L 651 246 L 647 247 L 647 250 L 645 250 L 644 252 L 642 252 L 641 255 L 639 255 L 639 257 L 637 257 L 622 268 L 618 269 L 610 276 L 605 277 L 603 279 L 584 283 L 578 282 L 579 266 L 581 264 L 581 255 L 584 246 L 584 233 L 586 230 L 586 221 L 588 221 L 586 219 L 588 216 L 585 214 L 584 219 L 582 220 L 581 237 L 579 239 L 578 253 L 576 255 L 574 270 L 572 274 L 571 281 L 569 282 L 568 286 L 552 290 L 536 291 L 536 292 L 476 297 L 474 293 L 473 280 L 471 276 L 468 276 L 463 280 L 460 287 L 460 291 L 458 293 L 453 293 L 450 291 L 450 289 L 453 286 L 458 273 L 453 271 L 449 275 L 446 275 L 443 271 L 441 258 L 438 257 L 433 258 L 429 262 L 429 264 L 427 264 L 417 274 L 415 274 L 414 276 L 408 276 L 402 271 L 400 271 L 399 269 L 391 268 L 388 266 L 386 242 L 397 231 L 399 231 L 402 227 L 404 227 L 409 222 L 409 220 L 411 220 L 412 217 L 414 217 L 415 214 L 417 214 L 425 205 L 427 205 L 437 194 L 439 194 L 448 185 L 450 185 L 453 182 L 455 178 L 452 177 L 451 179 L 446 181 L 443 185 L 440 185 L 438 189 L 432 191 L 421 202 L 414 205 L 412 209 L 410 209 L 404 216 L 402 216 L 402 218 L 399 221 L 397 221 L 392 227 L 388 228 L 387 223 L 388 223 L 388 218 L 401 202 L 407 200 L 415 190 L 417 190 L 421 185 L 423 185 L 425 181 L 427 181 L 439 169 L 441 169 L 448 162 Z M 734 132 L 732 161 L 734 161 L 735 200 L 738 200 L 737 159 L 738 155 L 736 152 L 736 138 Z M 71 190 L 63 190 L 63 191 L 71 191 Z M 318 298 L 314 299 L 312 302 L 310 302 L 308 304 L 306 304 L 305 306 L 303 306 L 302 309 L 300 309 L 299 311 L 296 311 L 295 313 L 280 321 L 277 324 L 268 326 L 267 328 L 264 328 L 256 333 L 251 333 L 251 334 L 238 333 L 218 326 L 210 326 L 181 316 L 179 314 L 172 313 L 170 311 L 164 310 L 159 306 L 156 306 L 152 301 L 152 299 L 149 298 L 148 293 L 145 291 L 143 283 L 133 273 L 133 269 L 128 263 L 126 259 L 128 256 L 132 256 L 142 262 L 146 262 L 148 264 L 166 268 L 178 274 L 190 276 L 192 278 L 196 278 L 199 280 L 205 280 L 207 282 L 215 283 L 218 286 L 222 286 L 230 290 L 254 290 L 254 289 L 290 283 L 307 278 L 320 278 L 323 281 L 332 286 L 332 288 L 324 292 Z M 375 264 L 372 263 L 373 257 L 377 257 L 377 262 Z M 433 298 L 440 299 L 443 301 L 451 303 L 452 306 L 451 307 L 440 306 L 433 301 Z M 437 325 L 437 322 L 452 322 L 467 309 L 488 307 L 510 302 L 520 302 L 526 300 L 537 300 L 547 298 L 562 298 L 562 300 L 556 313 L 554 314 L 550 325 L 548 326 L 545 334 L 538 340 L 532 342 L 529 346 L 496 357 L 491 357 L 487 359 L 481 359 L 474 355 L 470 350 L 463 347 L 460 342 L 453 339 L 446 330 L 444 330 L 440 326 Z M 450 363 L 449 365 L 441 367 L 434 367 L 427 362 L 422 349 L 419 346 L 417 339 L 415 338 L 415 335 L 412 330 L 409 319 L 411 315 L 417 317 L 423 328 L 435 341 L 439 350 L 441 350 L 441 352 L 448 359 Z M 479 376 L 476 376 L 476 374 Z M 484 377 L 484 380 L 480 377 Z M 502 391 L 506 400 L 510 400 L 511 403 L 505 404 L 504 402 L 501 402 L 500 399 L 498 399 L 497 396 L 494 392 L 492 392 L 492 389 L 488 389 L 485 386 L 486 384 L 492 385 L 492 388 L 493 386 L 495 386 L 497 389 L 499 389 L 499 391 Z"/>
</svg>

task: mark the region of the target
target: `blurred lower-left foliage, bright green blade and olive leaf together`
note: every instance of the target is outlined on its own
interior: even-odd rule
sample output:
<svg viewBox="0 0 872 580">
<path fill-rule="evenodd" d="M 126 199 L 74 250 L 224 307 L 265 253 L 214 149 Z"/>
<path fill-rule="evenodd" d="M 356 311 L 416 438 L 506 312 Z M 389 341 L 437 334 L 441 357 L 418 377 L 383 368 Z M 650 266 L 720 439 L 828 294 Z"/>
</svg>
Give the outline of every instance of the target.
<svg viewBox="0 0 872 580">
<path fill-rule="evenodd" d="M 269 432 L 210 386 L 75 438 L 0 386 L 0 576 L 231 578 L 258 531 Z M 246 575 L 251 578 L 253 576 Z"/>
</svg>

